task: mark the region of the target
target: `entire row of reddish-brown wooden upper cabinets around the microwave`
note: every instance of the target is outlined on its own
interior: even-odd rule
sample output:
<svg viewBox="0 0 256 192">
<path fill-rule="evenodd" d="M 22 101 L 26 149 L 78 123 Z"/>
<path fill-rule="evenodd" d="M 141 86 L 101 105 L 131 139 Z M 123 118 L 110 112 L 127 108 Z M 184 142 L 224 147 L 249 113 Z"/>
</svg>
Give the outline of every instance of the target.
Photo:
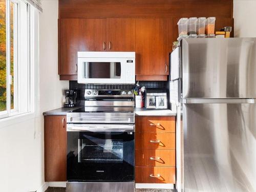
<svg viewBox="0 0 256 192">
<path fill-rule="evenodd" d="M 59 19 L 59 75 L 77 79 L 78 51 L 135 51 L 137 80 L 167 80 L 169 19 Z"/>
</svg>

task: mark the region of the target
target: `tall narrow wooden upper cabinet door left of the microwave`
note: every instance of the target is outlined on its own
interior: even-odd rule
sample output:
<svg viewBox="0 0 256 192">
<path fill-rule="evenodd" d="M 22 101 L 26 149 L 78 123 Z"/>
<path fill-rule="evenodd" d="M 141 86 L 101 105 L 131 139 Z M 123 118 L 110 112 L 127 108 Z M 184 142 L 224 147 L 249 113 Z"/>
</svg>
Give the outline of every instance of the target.
<svg viewBox="0 0 256 192">
<path fill-rule="evenodd" d="M 59 19 L 59 37 L 59 75 L 76 75 L 79 19 Z"/>
</svg>

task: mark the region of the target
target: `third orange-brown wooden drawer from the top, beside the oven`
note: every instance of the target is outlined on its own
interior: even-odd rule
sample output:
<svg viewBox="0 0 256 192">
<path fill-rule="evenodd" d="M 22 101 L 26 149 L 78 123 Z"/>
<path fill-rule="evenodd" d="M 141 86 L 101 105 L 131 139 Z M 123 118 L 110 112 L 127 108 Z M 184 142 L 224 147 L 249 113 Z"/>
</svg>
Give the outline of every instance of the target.
<svg viewBox="0 0 256 192">
<path fill-rule="evenodd" d="M 135 150 L 135 166 L 175 165 L 175 150 Z"/>
</svg>

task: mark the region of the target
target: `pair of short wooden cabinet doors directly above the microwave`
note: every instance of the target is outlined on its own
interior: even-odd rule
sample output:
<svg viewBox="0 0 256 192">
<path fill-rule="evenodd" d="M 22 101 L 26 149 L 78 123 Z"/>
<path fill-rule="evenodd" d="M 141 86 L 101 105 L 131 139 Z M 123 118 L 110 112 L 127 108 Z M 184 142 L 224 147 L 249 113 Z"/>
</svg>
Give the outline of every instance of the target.
<svg viewBox="0 0 256 192">
<path fill-rule="evenodd" d="M 79 51 L 135 51 L 135 19 L 79 19 Z"/>
</svg>

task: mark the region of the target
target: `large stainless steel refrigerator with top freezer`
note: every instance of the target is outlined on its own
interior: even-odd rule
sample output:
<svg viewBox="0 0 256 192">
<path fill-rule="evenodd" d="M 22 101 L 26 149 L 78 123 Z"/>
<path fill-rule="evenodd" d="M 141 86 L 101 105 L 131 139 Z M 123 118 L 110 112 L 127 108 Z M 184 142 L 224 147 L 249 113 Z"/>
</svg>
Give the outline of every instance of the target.
<svg viewBox="0 0 256 192">
<path fill-rule="evenodd" d="M 256 38 L 183 39 L 170 54 L 178 191 L 256 191 Z"/>
</svg>

